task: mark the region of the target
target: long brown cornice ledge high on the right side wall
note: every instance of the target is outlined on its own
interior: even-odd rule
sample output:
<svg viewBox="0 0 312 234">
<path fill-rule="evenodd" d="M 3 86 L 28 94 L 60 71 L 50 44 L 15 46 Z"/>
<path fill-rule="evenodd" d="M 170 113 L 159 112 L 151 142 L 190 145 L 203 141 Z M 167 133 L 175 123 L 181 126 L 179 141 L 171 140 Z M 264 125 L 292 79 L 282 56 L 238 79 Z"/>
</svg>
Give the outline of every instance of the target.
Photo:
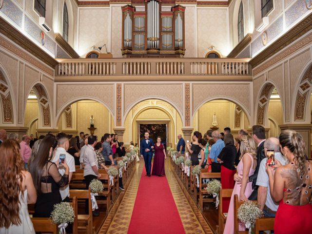
<svg viewBox="0 0 312 234">
<path fill-rule="evenodd" d="M 268 48 L 263 50 L 260 54 L 250 60 L 249 64 L 252 67 L 258 66 L 260 63 L 272 57 L 286 46 L 291 44 L 302 35 L 306 34 L 312 29 L 312 14 L 308 15 L 305 19 L 301 20 L 290 31 L 282 35 L 279 39 L 274 41 Z"/>
</svg>

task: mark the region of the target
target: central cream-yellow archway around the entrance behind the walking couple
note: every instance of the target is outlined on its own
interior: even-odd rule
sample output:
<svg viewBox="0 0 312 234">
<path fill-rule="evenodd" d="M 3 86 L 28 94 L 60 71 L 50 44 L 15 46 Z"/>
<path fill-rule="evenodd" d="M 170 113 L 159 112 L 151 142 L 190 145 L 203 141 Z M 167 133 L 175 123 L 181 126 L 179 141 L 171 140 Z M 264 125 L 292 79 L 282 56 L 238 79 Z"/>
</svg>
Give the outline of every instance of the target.
<svg viewBox="0 0 312 234">
<path fill-rule="evenodd" d="M 163 140 L 166 140 L 167 145 L 175 146 L 176 135 L 182 134 L 183 124 L 179 113 L 170 103 L 159 99 L 147 99 L 133 106 L 125 118 L 123 139 L 126 145 L 130 141 L 139 143 L 142 126 L 152 132 L 154 131 L 152 128 L 162 128 L 161 131 L 165 131 L 162 132 L 162 138 L 166 138 Z"/>
</svg>

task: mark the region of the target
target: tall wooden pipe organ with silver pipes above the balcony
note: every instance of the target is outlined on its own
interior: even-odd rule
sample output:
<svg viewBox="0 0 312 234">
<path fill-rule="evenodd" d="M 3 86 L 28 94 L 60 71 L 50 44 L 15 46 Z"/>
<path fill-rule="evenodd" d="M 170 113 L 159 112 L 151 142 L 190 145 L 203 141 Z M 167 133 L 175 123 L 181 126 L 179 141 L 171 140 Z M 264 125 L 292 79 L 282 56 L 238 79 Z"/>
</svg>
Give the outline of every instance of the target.
<svg viewBox="0 0 312 234">
<path fill-rule="evenodd" d="M 123 57 L 183 57 L 185 7 L 176 5 L 171 11 L 161 11 L 162 0 L 144 3 L 145 11 L 136 11 L 132 5 L 121 7 Z"/>
</svg>

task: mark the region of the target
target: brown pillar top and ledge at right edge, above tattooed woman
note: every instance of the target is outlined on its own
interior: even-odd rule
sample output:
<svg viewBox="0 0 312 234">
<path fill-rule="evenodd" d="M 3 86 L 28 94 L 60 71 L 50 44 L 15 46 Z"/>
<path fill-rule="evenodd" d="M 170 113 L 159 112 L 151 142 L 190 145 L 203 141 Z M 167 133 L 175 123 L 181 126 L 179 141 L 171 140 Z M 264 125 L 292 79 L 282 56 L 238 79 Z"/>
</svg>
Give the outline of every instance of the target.
<svg viewBox="0 0 312 234">
<path fill-rule="evenodd" d="M 306 154 L 311 158 L 311 128 L 312 124 L 282 124 L 278 125 L 281 131 L 286 129 L 292 129 L 297 133 L 300 133 L 306 143 Z"/>
</svg>

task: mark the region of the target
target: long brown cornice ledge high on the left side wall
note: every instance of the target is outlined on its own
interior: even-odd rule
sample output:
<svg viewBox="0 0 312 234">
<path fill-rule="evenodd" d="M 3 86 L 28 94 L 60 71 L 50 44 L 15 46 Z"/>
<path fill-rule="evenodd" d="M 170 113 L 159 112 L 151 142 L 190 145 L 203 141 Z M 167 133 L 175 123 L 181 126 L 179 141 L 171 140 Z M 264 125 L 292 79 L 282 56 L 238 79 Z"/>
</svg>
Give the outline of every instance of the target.
<svg viewBox="0 0 312 234">
<path fill-rule="evenodd" d="M 33 56 L 37 57 L 42 62 L 46 63 L 53 69 L 55 69 L 58 61 L 53 59 L 45 51 L 41 50 L 30 39 L 25 37 L 19 30 L 14 28 L 11 24 L 0 17 L 0 33 L 5 37 L 11 39 L 13 42 L 17 43 L 20 47 L 31 53 Z"/>
</svg>

